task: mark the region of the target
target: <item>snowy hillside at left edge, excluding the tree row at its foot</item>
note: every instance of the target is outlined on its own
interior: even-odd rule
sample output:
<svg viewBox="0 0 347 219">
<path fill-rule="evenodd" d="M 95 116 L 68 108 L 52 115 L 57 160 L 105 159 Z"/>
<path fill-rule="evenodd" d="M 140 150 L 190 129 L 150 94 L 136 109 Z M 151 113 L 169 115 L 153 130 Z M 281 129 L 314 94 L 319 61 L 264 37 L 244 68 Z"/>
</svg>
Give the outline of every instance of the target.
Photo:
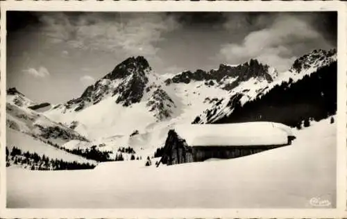
<svg viewBox="0 0 347 219">
<path fill-rule="evenodd" d="M 83 157 L 71 155 L 58 147 L 71 140 L 87 142 L 78 132 L 46 118 L 34 109 L 48 107 L 37 105 L 24 94 L 12 88 L 7 91 L 6 103 L 6 147 L 19 148 L 22 152 L 36 152 L 50 159 L 63 161 L 85 161 Z M 38 110 L 40 111 L 40 110 Z M 53 146 L 56 146 L 54 148 Z"/>
</svg>

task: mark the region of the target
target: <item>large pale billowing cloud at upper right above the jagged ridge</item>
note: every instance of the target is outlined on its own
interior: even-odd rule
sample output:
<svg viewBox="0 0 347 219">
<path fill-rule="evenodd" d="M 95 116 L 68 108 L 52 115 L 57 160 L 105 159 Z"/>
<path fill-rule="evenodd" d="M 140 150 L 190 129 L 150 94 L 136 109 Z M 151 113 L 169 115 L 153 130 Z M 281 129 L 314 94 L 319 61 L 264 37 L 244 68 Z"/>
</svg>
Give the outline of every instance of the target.
<svg viewBox="0 0 347 219">
<path fill-rule="evenodd" d="M 266 22 L 257 21 L 262 28 L 248 33 L 241 44 L 224 44 L 220 55 L 234 62 L 257 58 L 279 71 L 285 71 L 296 59 L 296 49 L 305 44 L 326 44 L 303 17 L 278 15 L 271 18 L 273 21 L 265 27 Z"/>
</svg>

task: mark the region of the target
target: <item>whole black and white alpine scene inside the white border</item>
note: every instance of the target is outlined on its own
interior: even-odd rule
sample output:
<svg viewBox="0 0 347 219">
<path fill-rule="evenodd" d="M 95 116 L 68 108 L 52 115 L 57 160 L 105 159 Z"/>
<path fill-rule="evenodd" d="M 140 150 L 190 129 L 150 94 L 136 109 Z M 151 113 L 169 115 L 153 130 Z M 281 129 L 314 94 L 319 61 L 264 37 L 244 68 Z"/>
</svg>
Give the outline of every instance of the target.
<svg viewBox="0 0 347 219">
<path fill-rule="evenodd" d="M 338 14 L 6 10 L 6 208 L 336 209 Z"/>
</svg>

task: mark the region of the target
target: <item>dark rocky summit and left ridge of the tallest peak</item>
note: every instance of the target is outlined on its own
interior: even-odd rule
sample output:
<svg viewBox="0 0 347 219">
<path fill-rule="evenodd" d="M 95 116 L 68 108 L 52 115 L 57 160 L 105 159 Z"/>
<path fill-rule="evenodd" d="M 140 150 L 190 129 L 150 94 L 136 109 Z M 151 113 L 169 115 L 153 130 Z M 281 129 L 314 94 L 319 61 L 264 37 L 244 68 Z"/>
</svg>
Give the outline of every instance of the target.
<svg viewBox="0 0 347 219">
<path fill-rule="evenodd" d="M 143 56 L 127 58 L 94 85 L 87 87 L 80 97 L 65 103 L 65 107 L 78 112 L 88 105 L 99 103 L 106 96 L 115 96 L 115 103 L 125 107 L 139 103 L 149 82 L 150 71 L 149 62 Z"/>
</svg>

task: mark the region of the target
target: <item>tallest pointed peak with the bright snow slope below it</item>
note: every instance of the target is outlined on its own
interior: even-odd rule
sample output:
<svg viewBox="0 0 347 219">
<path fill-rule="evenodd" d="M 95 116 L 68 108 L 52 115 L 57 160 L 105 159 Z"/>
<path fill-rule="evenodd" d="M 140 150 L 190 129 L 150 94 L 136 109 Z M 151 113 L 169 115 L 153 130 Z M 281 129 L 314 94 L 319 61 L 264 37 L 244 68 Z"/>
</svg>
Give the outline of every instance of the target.
<svg viewBox="0 0 347 219">
<path fill-rule="evenodd" d="M 79 98 L 44 114 L 92 139 L 131 134 L 174 114 L 176 105 L 161 86 L 143 57 L 128 58 Z"/>
</svg>

